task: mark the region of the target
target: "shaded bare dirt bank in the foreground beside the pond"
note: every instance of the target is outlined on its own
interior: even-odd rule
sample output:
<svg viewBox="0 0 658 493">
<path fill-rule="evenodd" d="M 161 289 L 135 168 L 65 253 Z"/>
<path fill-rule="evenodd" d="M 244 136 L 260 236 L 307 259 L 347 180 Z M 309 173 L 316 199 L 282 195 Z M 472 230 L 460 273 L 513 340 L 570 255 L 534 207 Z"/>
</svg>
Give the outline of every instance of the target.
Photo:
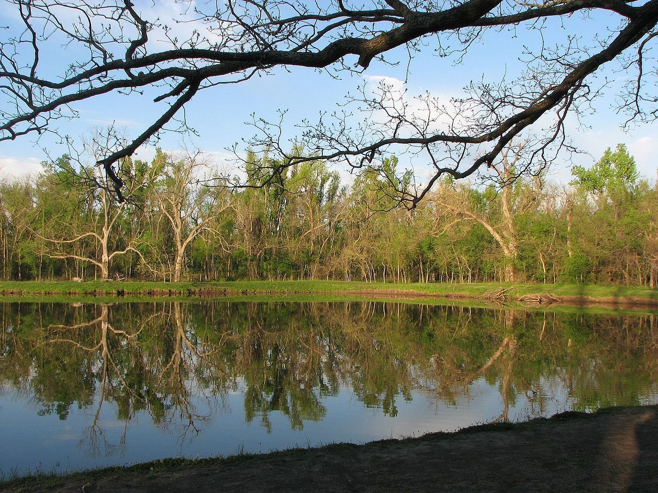
<svg viewBox="0 0 658 493">
<path fill-rule="evenodd" d="M 111 469 L 94 476 L 5 484 L 4 490 L 653 493 L 658 492 L 658 406 L 569 412 L 520 425 L 336 444 L 172 471 Z"/>
</svg>

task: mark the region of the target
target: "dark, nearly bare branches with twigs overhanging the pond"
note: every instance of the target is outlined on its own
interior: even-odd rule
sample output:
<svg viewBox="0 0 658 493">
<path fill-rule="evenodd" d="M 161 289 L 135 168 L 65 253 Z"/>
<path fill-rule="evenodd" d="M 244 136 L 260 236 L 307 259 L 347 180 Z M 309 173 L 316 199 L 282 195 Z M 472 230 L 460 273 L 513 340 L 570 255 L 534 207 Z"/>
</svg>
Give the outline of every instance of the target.
<svg viewBox="0 0 658 493">
<path fill-rule="evenodd" d="M 278 141 L 280 122 L 256 118 L 251 146 L 280 151 L 273 177 L 283 166 L 311 158 L 376 168 L 385 153 L 422 153 L 430 177 L 399 191 L 415 206 L 440 176 L 462 178 L 494 164 L 512 139 L 528 131 L 538 135 L 531 158 L 547 159 L 549 150 L 567 143 L 567 114 L 591 103 L 605 85 L 595 72 L 613 60 L 632 73 L 618 109 L 628 112 L 629 121 L 651 120 L 658 112 L 655 79 L 647 81 L 657 74 L 650 52 L 658 35 L 658 0 L 172 1 L 188 5 L 185 20 L 195 25 L 188 39 L 170 35 L 167 23 L 174 21 L 153 18 L 147 0 L 5 0 L 2 10 L 11 22 L 0 30 L 0 140 L 61 131 L 58 120 L 75 116 L 76 104 L 86 99 L 158 88 L 153 104 L 162 106 L 159 116 L 98 162 L 124 200 L 120 160 L 172 120 L 186 126 L 186 103 L 221 91 L 224 83 L 249 83 L 277 66 L 320 68 L 328 76 L 363 72 L 397 47 L 410 57 L 434 50 L 459 58 L 492 30 L 510 38 L 520 28 L 542 35 L 551 19 L 561 21 L 565 41 L 526 53 L 528 70 L 516 80 L 470 83 L 449 105 L 430 96 L 409 105 L 382 85 L 352 96 L 371 122 L 337 116 L 302 124 L 304 156 L 286 155 L 291 146 Z M 591 39 L 584 38 L 588 33 Z M 66 47 L 59 72 L 52 60 L 44 64 L 47 43 Z"/>
</svg>

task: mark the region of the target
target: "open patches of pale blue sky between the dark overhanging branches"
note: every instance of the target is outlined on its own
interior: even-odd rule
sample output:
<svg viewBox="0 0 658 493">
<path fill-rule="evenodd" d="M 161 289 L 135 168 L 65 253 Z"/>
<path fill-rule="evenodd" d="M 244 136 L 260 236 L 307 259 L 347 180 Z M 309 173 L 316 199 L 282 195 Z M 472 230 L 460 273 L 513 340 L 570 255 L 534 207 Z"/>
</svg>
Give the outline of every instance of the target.
<svg viewBox="0 0 658 493">
<path fill-rule="evenodd" d="M 9 8 L 6 3 L 0 7 L 2 25 L 12 23 L 13 15 Z M 184 18 L 182 5 L 174 0 L 157 1 L 155 7 L 148 12 L 149 18 Z M 434 56 L 430 46 L 411 62 L 408 73 L 404 49 L 398 49 L 388 56 L 388 60 L 399 62 L 398 66 L 373 62 L 363 74 L 343 72 L 340 80 L 307 68 L 290 68 L 290 72 L 278 68 L 272 76 L 256 77 L 245 83 L 214 87 L 199 93 L 186 106 L 188 123 L 200 134 L 199 137 L 191 137 L 190 141 L 214 156 L 218 166 L 225 167 L 228 166 L 226 158 L 229 157 L 226 148 L 236 142 L 240 143 L 243 138 L 253 133 L 251 128 L 243 124 L 249 120 L 252 113 L 257 117 L 276 120 L 278 110 L 288 110 L 285 130 L 287 136 L 292 138 L 299 135 L 295 124 L 303 118 L 315 120 L 320 111 L 331 112 L 336 109 L 338 103 L 343 103 L 346 93 L 354 91 L 364 82 L 370 87 L 384 79 L 399 90 L 407 91 L 407 97 L 428 91 L 447 101 L 450 97 L 460 95 L 462 87 L 470 80 L 480 80 L 482 76 L 488 82 L 498 82 L 503 76 L 513 78 L 524 68 L 524 63 L 519 61 L 524 46 L 532 49 L 542 38 L 545 43 L 559 43 L 569 32 L 578 32 L 586 42 L 591 43 L 595 32 L 605 34 L 606 26 L 616 26 L 617 22 L 617 19 L 605 14 L 599 15 L 595 22 L 584 22 L 580 14 L 574 14 L 571 18 L 550 20 L 541 31 L 528 31 L 524 26 L 517 28 L 515 35 L 492 31 L 484 37 L 482 43 L 471 47 L 463 63 L 456 66 L 453 60 Z M 563 29 L 563 23 L 569 29 Z M 181 34 L 190 29 L 187 24 L 172 25 L 181 30 Z M 61 59 L 57 56 L 57 49 L 59 47 L 53 47 L 44 70 L 59 70 Z M 620 129 L 620 124 L 625 119 L 610 108 L 615 102 L 615 85 L 624 85 L 626 78 L 631 75 L 614 74 L 610 68 L 615 66 L 618 64 L 613 62 L 605 72 L 597 74 L 599 80 L 607 77 L 612 82 L 607 93 L 597 101 L 597 112 L 582 120 L 591 128 L 579 128 L 574 118 L 567 123 L 573 142 L 583 151 L 592 154 L 578 156 L 576 164 L 591 166 L 607 147 L 626 143 L 630 153 L 636 158 L 640 172 L 655 179 L 657 126 L 643 125 L 628 133 Z M 78 103 L 74 108 L 80 113 L 79 118 L 71 122 L 61 122 L 59 129 L 61 133 L 78 138 L 90 127 L 107 126 L 114 122 L 116 126 L 125 128 L 128 135 L 138 135 L 139 131 L 147 128 L 160 112 L 164 111 L 163 103 L 152 103 L 155 95 L 155 91 L 131 97 L 108 95 Z M 168 127 L 172 126 L 174 125 L 170 124 Z M 164 133 L 159 146 L 166 150 L 178 149 L 180 138 L 176 133 Z M 66 152 L 66 148 L 58 147 L 55 139 L 49 135 L 42 137 L 38 143 L 29 138 L 2 143 L 0 166 L 3 172 L 38 172 L 38 163 L 45 158 L 41 150 L 43 147 L 53 156 Z M 245 148 L 244 145 L 238 147 Z M 141 149 L 138 157 L 149 158 L 153 153 L 153 148 Z M 415 165 L 418 175 L 422 176 L 423 164 L 417 162 Z M 571 165 L 571 162 L 563 161 L 554 166 L 552 172 L 555 178 L 568 181 Z"/>
</svg>

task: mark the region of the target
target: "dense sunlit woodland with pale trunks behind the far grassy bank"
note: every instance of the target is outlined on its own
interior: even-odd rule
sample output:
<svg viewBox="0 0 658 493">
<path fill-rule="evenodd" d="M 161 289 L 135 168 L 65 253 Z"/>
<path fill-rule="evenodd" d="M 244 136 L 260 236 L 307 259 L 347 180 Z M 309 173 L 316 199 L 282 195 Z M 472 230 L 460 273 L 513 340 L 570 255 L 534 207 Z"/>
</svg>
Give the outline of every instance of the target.
<svg viewBox="0 0 658 493">
<path fill-rule="evenodd" d="M 575 166 L 569 184 L 521 172 L 508 149 L 487 183 L 444 180 L 413 210 L 396 206 L 411 185 L 395 157 L 390 179 L 363 168 L 349 184 L 323 161 L 266 175 L 267 159 L 247 156 L 240 189 L 201 154 L 126 159 L 122 203 L 68 155 L 4 177 L 0 275 L 658 283 L 658 185 L 623 145 Z"/>
</svg>

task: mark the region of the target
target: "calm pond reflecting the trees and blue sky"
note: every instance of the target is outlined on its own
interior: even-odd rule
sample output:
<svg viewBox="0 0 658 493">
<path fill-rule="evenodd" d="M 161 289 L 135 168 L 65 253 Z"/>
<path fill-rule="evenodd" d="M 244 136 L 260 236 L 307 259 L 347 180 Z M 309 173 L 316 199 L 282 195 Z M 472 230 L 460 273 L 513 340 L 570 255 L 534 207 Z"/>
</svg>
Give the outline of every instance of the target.
<svg viewBox="0 0 658 493">
<path fill-rule="evenodd" d="M 658 315 L 399 302 L 0 304 L 0 472 L 658 404 Z"/>
</svg>

